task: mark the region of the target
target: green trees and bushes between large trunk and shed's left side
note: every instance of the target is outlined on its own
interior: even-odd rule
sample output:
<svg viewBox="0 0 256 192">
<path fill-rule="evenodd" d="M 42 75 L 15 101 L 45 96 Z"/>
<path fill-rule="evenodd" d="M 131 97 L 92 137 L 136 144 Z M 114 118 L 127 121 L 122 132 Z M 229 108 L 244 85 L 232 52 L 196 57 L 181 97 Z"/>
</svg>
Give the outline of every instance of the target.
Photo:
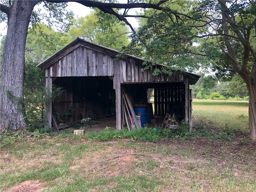
<svg viewBox="0 0 256 192">
<path fill-rule="evenodd" d="M 54 32 L 51 28 L 39 24 L 28 30 L 25 52 L 24 88 L 22 100 L 24 118 L 28 130 L 40 129 L 41 132 L 48 132 L 45 127 L 45 106 L 49 102 L 45 87 L 45 72 L 36 65 L 56 52 L 67 41 L 62 33 Z M 62 94 L 61 88 L 53 86 L 51 97 L 54 99 Z"/>
</svg>

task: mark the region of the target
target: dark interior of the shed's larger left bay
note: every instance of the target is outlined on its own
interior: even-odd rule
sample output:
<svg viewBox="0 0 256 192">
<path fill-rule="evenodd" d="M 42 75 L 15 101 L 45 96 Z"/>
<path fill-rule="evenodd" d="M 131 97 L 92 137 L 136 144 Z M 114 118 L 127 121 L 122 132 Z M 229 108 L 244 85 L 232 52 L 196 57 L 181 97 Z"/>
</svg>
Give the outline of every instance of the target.
<svg viewBox="0 0 256 192">
<path fill-rule="evenodd" d="M 115 114 L 111 77 L 60 77 L 54 80 L 53 85 L 63 90 L 52 104 L 52 113 L 58 124 L 77 122 L 87 117 L 96 120 Z"/>
</svg>

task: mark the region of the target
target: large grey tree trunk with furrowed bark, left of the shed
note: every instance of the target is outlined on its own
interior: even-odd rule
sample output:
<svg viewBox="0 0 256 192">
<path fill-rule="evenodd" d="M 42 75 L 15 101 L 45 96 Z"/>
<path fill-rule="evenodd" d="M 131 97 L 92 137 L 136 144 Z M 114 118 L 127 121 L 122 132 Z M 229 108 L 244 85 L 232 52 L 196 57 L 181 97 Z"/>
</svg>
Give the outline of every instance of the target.
<svg viewBox="0 0 256 192">
<path fill-rule="evenodd" d="M 0 131 L 25 128 L 22 88 L 25 45 L 30 14 L 38 1 L 13 1 L 8 12 L 0 85 Z"/>
</svg>

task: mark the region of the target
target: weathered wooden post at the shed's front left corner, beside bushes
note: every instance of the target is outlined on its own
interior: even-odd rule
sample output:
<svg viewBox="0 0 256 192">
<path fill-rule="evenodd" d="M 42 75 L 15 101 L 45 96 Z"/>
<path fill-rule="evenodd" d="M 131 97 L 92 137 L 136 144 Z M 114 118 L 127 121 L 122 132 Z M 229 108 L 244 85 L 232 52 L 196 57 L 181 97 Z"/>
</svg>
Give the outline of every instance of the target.
<svg viewBox="0 0 256 192">
<path fill-rule="evenodd" d="M 48 98 L 46 102 L 46 121 L 48 126 L 52 128 L 52 77 L 50 76 L 49 68 L 45 70 L 45 76 L 46 97 Z"/>
</svg>

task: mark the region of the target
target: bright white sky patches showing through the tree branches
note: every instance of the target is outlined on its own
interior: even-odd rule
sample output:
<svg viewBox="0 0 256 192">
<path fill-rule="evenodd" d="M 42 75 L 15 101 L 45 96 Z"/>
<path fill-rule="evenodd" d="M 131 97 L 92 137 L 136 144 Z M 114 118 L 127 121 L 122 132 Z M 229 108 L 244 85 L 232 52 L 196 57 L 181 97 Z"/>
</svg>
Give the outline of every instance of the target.
<svg viewBox="0 0 256 192">
<path fill-rule="evenodd" d="M 119 2 L 126 3 L 127 0 L 119 0 Z M 74 12 L 74 16 L 78 16 L 78 17 L 84 17 L 87 14 L 90 14 L 90 11 L 92 10 L 89 7 L 83 6 L 76 2 L 68 2 L 68 8 Z M 135 14 L 136 11 L 139 12 L 140 8 L 131 9 L 129 10 L 128 14 Z M 128 22 L 130 22 L 133 28 L 138 27 L 138 22 L 136 21 L 136 18 L 127 18 L 127 20 Z M 6 35 L 6 32 L 7 32 L 6 25 L 7 24 L 5 22 L 0 23 L 0 39 L 2 38 L 2 36 Z"/>
</svg>

